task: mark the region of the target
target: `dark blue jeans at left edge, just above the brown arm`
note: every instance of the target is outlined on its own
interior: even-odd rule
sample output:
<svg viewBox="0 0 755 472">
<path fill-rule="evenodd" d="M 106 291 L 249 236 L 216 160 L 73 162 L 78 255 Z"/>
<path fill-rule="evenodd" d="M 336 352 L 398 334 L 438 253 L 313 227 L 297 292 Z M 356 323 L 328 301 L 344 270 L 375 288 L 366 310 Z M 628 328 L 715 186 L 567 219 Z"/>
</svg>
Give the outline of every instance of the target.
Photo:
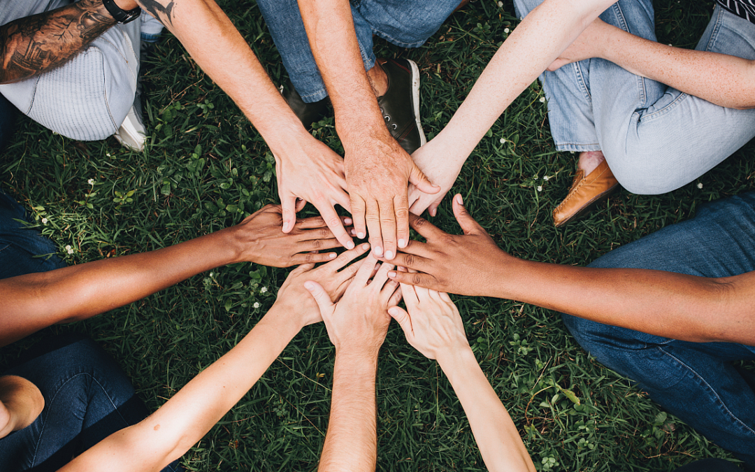
<svg viewBox="0 0 755 472">
<path fill-rule="evenodd" d="M 28 220 L 26 210 L 0 190 L 0 279 L 66 267 L 55 245 L 19 220 Z"/>
</svg>

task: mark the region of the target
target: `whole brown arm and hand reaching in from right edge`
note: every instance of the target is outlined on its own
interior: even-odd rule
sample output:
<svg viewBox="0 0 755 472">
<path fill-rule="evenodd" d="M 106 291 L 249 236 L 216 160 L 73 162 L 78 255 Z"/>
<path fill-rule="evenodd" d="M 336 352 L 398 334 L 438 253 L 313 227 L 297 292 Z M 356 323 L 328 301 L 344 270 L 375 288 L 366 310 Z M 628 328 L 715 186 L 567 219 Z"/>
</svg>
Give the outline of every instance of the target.
<svg viewBox="0 0 755 472">
<path fill-rule="evenodd" d="M 682 341 L 755 345 L 755 272 L 710 279 L 644 269 L 602 269 L 523 261 L 495 245 L 467 213 L 461 195 L 456 236 L 415 217 L 427 239 L 393 262 L 421 273 L 392 272 L 399 282 L 461 295 L 508 298 L 608 325 Z"/>
</svg>

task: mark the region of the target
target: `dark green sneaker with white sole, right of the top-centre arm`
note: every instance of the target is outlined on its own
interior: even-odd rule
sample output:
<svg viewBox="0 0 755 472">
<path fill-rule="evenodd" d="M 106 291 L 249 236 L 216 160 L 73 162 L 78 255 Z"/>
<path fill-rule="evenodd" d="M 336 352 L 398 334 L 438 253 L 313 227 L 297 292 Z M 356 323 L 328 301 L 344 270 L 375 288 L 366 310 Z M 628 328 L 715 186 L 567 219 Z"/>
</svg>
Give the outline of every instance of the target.
<svg viewBox="0 0 755 472">
<path fill-rule="evenodd" d="M 413 60 L 378 59 L 388 76 L 388 90 L 377 97 L 390 134 L 411 154 L 427 139 L 420 124 L 420 71 Z"/>
</svg>

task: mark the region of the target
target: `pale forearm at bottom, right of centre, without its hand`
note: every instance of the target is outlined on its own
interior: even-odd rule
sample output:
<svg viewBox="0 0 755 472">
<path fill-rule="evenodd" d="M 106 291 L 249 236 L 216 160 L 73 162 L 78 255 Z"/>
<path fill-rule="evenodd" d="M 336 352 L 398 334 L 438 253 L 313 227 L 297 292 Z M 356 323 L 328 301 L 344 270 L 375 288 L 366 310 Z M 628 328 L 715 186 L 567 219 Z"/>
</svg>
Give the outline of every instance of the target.
<svg viewBox="0 0 755 472">
<path fill-rule="evenodd" d="M 479 368 L 470 347 L 439 356 L 438 363 L 467 414 L 488 470 L 534 471 L 535 465 L 519 437 L 516 425 Z"/>
</svg>

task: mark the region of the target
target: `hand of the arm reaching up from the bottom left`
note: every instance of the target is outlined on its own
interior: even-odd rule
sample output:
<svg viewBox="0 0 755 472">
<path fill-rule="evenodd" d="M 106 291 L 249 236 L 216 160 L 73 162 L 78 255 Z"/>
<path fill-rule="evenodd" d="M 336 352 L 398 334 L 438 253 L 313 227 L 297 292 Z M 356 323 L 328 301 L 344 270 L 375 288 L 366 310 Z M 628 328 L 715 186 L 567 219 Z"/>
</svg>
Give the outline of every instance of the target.
<svg viewBox="0 0 755 472">
<path fill-rule="evenodd" d="M 315 264 L 300 265 L 288 274 L 285 282 L 278 289 L 275 304 L 279 308 L 284 308 L 283 313 L 296 313 L 297 316 L 301 316 L 300 325 L 302 328 L 322 321 L 317 303 L 310 296 L 307 288 L 304 288 L 304 282 L 307 282 L 307 280 L 317 282 L 331 302 L 338 301 L 341 295 L 344 295 L 356 271 L 359 270 L 359 267 L 362 267 L 363 261 L 348 264 L 367 252 L 369 248 L 370 245 L 365 242 L 356 246 L 356 248 L 342 252 L 328 264 L 322 264 L 318 267 L 315 267 Z"/>
</svg>

